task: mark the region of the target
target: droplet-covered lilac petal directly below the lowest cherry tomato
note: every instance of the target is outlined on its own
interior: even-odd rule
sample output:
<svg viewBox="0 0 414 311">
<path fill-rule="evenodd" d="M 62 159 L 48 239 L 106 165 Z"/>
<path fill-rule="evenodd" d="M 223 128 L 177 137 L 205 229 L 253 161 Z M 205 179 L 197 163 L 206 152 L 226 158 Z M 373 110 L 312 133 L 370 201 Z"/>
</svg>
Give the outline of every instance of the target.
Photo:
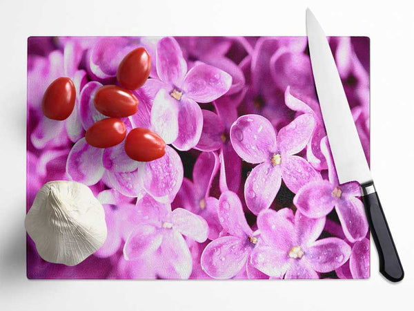
<svg viewBox="0 0 414 311">
<path fill-rule="evenodd" d="M 157 160 L 141 162 L 139 167 L 144 189 L 160 202 L 172 202 L 183 181 L 183 164 L 177 152 L 166 146 L 166 154 Z"/>
</svg>

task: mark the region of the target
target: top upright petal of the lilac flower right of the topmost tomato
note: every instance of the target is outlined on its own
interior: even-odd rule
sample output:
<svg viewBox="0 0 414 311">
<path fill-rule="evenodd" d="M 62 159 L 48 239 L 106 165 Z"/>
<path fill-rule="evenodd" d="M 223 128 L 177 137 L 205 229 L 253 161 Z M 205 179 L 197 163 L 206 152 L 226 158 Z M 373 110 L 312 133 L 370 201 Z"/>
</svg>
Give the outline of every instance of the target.
<svg viewBox="0 0 414 311">
<path fill-rule="evenodd" d="M 162 82 L 181 87 L 187 73 L 187 63 L 177 41 L 165 37 L 157 44 L 157 74 Z"/>
</svg>

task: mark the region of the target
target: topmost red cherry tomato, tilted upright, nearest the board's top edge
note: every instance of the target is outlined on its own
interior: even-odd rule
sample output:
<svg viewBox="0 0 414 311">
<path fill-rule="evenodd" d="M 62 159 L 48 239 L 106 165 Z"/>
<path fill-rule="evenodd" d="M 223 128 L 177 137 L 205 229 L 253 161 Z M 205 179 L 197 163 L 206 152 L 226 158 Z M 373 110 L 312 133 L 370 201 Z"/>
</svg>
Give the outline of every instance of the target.
<svg viewBox="0 0 414 311">
<path fill-rule="evenodd" d="M 132 50 L 118 66 L 117 79 L 121 86 L 135 90 L 146 82 L 151 71 L 151 57 L 145 48 Z"/>
</svg>

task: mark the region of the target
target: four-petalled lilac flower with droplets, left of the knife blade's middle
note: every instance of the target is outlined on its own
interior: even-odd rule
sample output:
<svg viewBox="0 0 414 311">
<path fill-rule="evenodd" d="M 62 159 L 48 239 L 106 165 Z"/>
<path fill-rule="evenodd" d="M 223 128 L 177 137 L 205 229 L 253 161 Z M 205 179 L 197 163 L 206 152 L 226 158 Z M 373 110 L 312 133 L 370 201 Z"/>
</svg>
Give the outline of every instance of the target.
<svg viewBox="0 0 414 311">
<path fill-rule="evenodd" d="M 276 138 L 272 124 L 261 115 L 243 115 L 233 123 L 230 129 L 233 148 L 246 162 L 259 163 L 244 185 L 247 207 L 254 214 L 270 207 L 282 178 L 294 193 L 306 183 L 321 179 L 311 164 L 295 156 L 308 143 L 314 127 L 312 115 L 299 115 Z"/>
</svg>

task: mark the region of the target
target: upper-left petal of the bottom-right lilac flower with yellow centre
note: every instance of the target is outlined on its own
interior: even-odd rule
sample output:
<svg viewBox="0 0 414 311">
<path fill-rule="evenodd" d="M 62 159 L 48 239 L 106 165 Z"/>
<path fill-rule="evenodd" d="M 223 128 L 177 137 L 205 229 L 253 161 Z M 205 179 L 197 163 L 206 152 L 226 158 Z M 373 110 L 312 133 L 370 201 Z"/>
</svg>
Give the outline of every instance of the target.
<svg viewBox="0 0 414 311">
<path fill-rule="evenodd" d="M 290 247 L 295 245 L 295 227 L 292 220 L 291 209 L 274 211 L 266 209 L 257 216 L 257 227 L 260 230 L 260 238 L 265 243 L 272 245 L 278 252 L 287 253 Z"/>
</svg>

